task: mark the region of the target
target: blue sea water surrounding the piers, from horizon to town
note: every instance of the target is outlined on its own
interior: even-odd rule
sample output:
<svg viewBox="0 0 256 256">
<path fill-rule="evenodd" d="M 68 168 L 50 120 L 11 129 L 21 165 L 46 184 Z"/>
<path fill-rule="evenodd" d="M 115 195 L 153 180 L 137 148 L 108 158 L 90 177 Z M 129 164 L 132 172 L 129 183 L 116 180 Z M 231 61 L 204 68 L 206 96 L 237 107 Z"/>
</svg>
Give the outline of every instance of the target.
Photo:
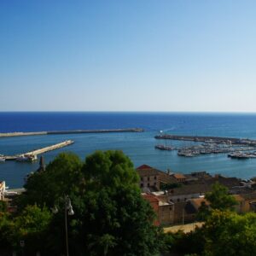
<svg viewBox="0 0 256 256">
<path fill-rule="evenodd" d="M 158 141 L 159 131 L 170 134 L 244 137 L 256 139 L 256 114 L 249 113 L 0 113 L 0 132 L 57 131 L 79 129 L 117 129 L 138 127 L 142 133 L 68 134 L 32 137 L 0 138 L 0 154 L 19 154 L 34 148 L 42 148 L 66 139 L 75 143 L 44 154 L 46 163 L 56 154 L 73 151 L 84 160 L 96 149 L 120 149 L 135 166 L 148 164 L 162 171 L 207 171 L 229 177 L 256 176 L 256 159 L 231 160 L 226 154 L 201 155 L 195 158 L 178 157 L 176 151 L 160 151 L 155 144 L 188 145 L 188 142 Z M 28 172 L 35 171 L 38 162 L 0 164 L 0 180 L 10 188 L 21 187 Z"/>
</svg>

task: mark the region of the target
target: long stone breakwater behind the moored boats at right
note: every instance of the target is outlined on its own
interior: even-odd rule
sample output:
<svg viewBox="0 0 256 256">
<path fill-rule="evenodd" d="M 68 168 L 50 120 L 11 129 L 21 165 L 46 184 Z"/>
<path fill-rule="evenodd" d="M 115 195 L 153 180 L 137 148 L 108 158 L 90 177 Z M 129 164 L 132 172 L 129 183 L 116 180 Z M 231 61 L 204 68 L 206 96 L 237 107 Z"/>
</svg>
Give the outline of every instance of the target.
<svg viewBox="0 0 256 256">
<path fill-rule="evenodd" d="M 177 141 L 201 142 L 201 143 L 217 143 L 217 144 L 235 144 L 256 146 L 256 140 L 235 138 L 235 137 L 207 137 L 207 136 L 187 136 L 187 135 L 157 135 L 156 139 L 169 139 Z"/>
</svg>

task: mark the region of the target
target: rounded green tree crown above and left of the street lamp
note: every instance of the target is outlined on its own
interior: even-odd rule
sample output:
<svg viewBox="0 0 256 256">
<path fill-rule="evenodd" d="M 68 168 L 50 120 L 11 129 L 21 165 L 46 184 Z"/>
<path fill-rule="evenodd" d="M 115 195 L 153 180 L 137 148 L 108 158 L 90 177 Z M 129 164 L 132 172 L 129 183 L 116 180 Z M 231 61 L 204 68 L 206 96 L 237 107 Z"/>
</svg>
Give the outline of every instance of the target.
<svg viewBox="0 0 256 256">
<path fill-rule="evenodd" d="M 82 162 L 76 154 L 61 153 L 49 163 L 44 172 L 32 173 L 25 184 L 26 193 L 20 195 L 20 208 L 37 204 L 54 207 L 63 195 L 79 193 L 83 182 Z"/>
</svg>

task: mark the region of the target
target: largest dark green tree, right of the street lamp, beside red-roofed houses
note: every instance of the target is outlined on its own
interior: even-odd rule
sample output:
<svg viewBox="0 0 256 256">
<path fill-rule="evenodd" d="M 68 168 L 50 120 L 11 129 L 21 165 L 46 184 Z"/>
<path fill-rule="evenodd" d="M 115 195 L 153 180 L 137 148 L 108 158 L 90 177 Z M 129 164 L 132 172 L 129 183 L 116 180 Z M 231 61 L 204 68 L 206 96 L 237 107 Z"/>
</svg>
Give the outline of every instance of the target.
<svg viewBox="0 0 256 256">
<path fill-rule="evenodd" d="M 154 212 L 140 195 L 137 172 L 120 151 L 97 151 L 86 158 L 87 202 L 79 239 L 86 255 L 154 255 L 159 230 Z"/>
</svg>

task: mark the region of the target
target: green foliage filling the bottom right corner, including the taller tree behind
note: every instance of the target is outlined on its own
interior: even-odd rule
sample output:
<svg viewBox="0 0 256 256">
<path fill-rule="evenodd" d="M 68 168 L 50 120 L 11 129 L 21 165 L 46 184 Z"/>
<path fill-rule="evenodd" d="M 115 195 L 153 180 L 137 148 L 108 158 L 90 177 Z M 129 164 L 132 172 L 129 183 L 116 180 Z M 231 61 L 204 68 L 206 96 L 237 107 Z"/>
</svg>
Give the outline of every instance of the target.
<svg viewBox="0 0 256 256">
<path fill-rule="evenodd" d="M 234 197 L 219 183 L 212 186 L 206 199 L 209 206 L 200 209 L 205 224 L 188 234 L 166 234 L 166 251 L 176 255 L 256 255 L 256 213 L 234 212 Z"/>
</svg>

